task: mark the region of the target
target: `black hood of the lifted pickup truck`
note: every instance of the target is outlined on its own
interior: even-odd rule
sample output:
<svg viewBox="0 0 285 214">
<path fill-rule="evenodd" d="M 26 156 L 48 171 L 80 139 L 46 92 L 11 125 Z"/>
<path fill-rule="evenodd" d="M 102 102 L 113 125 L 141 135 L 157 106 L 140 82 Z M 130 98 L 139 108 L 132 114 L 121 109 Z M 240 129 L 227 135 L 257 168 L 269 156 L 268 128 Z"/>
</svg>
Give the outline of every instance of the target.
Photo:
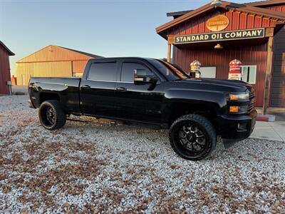
<svg viewBox="0 0 285 214">
<path fill-rule="evenodd" d="M 225 80 L 217 78 L 187 78 L 176 81 L 182 83 L 182 85 L 190 86 L 187 83 L 191 83 L 193 87 L 209 90 L 209 91 L 227 91 L 227 92 L 245 92 L 247 90 L 252 91 L 252 86 L 249 83 L 235 80 Z M 190 86 L 190 88 L 192 88 Z"/>
</svg>

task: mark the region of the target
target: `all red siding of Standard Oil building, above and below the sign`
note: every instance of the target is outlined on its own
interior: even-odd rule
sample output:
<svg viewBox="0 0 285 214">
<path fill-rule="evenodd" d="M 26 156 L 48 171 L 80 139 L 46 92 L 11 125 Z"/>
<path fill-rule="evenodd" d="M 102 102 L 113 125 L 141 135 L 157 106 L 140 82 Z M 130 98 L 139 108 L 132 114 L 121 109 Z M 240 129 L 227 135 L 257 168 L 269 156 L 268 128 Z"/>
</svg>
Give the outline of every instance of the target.
<svg viewBox="0 0 285 214">
<path fill-rule="evenodd" d="M 267 9 L 276 11 L 285 11 L 284 6 L 271 6 Z M 229 26 L 224 31 L 234 31 L 241 29 L 254 29 L 274 27 L 276 21 L 267 17 L 245 14 L 239 11 L 225 11 L 222 9 L 209 11 L 206 15 L 200 15 L 192 18 L 191 21 L 173 27 L 167 31 L 168 35 L 183 35 L 183 34 L 202 34 L 209 33 L 206 27 L 206 21 L 218 14 L 224 14 L 229 18 Z M 274 41 L 275 42 L 275 41 Z M 228 78 L 229 62 L 234 58 L 242 61 L 244 65 L 257 66 L 257 79 L 254 88 L 257 91 L 257 106 L 262 106 L 264 96 L 264 80 L 266 73 L 266 47 L 267 44 L 249 44 L 241 47 L 232 46 L 225 47 L 221 50 L 213 49 L 210 46 L 181 46 L 180 49 L 174 47 L 173 60 L 177 65 L 185 70 L 190 70 L 190 63 L 198 60 L 202 66 L 216 66 L 217 78 Z"/>
</svg>

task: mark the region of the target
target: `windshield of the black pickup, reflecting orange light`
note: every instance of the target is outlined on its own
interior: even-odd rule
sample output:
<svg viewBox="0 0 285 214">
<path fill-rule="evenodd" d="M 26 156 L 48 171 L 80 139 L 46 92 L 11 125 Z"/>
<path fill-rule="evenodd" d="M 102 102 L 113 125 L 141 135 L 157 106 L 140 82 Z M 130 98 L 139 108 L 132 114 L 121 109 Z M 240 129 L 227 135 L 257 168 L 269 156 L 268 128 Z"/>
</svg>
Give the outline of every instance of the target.
<svg viewBox="0 0 285 214">
<path fill-rule="evenodd" d="M 169 81 L 174 81 L 182 78 L 190 78 L 181 68 L 172 63 L 159 59 L 151 60 L 151 63 L 162 73 Z"/>
</svg>

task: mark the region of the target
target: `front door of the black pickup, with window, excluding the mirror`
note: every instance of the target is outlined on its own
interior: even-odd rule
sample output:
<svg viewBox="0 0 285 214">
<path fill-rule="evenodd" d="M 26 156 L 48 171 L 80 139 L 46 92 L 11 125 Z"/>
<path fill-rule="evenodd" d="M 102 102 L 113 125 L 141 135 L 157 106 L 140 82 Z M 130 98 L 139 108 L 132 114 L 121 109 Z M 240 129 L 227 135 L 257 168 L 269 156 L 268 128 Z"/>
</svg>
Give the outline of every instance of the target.
<svg viewBox="0 0 285 214">
<path fill-rule="evenodd" d="M 118 118 L 132 121 L 160 123 L 163 82 L 141 61 L 120 61 L 120 78 L 116 83 L 115 96 Z M 157 77 L 155 84 L 135 84 L 134 72 L 142 71 L 147 76 Z"/>
</svg>

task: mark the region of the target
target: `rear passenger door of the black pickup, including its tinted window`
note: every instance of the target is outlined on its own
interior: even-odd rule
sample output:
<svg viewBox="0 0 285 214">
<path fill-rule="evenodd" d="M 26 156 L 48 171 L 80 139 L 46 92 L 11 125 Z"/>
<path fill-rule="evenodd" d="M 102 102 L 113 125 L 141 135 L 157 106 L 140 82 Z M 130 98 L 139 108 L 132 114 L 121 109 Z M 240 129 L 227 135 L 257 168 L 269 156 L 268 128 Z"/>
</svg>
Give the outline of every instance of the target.
<svg viewBox="0 0 285 214">
<path fill-rule="evenodd" d="M 91 61 L 81 81 L 81 111 L 91 116 L 115 117 L 117 61 Z"/>
</svg>

